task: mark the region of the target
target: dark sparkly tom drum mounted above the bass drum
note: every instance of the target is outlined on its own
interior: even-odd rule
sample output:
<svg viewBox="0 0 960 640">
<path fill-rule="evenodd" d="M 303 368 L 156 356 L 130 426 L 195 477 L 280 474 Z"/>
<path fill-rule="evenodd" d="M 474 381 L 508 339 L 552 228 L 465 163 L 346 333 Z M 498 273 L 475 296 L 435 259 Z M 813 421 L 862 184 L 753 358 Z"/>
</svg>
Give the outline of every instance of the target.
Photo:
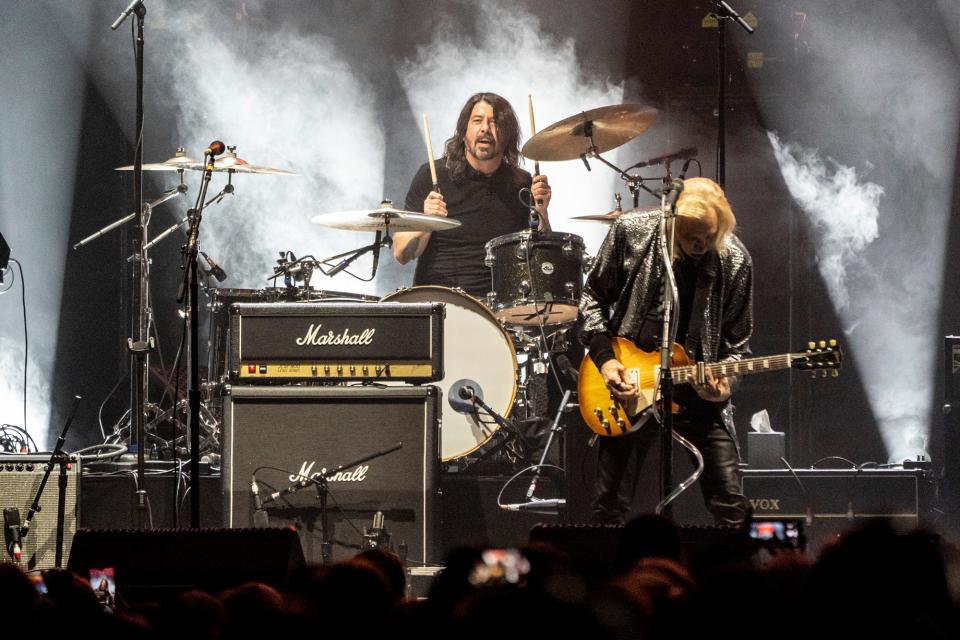
<svg viewBox="0 0 960 640">
<path fill-rule="evenodd" d="M 486 245 L 497 318 L 513 325 L 574 322 L 583 290 L 583 238 L 572 233 L 520 231 Z"/>
</svg>

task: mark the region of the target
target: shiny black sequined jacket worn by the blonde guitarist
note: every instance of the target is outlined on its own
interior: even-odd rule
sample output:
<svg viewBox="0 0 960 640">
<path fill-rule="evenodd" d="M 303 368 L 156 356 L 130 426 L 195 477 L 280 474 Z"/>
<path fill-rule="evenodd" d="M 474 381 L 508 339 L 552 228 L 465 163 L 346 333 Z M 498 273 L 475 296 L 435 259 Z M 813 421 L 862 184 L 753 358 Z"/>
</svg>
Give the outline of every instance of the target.
<svg viewBox="0 0 960 640">
<path fill-rule="evenodd" d="M 657 242 L 659 212 L 629 212 L 618 218 L 587 275 L 580 301 L 585 346 L 597 333 L 636 337 L 647 312 L 660 303 L 663 263 Z M 702 317 L 704 360 L 739 360 L 749 355 L 753 332 L 753 265 L 746 247 L 731 236 L 723 255 L 704 256 L 692 317 Z M 723 421 L 733 432 L 729 403 Z"/>
</svg>

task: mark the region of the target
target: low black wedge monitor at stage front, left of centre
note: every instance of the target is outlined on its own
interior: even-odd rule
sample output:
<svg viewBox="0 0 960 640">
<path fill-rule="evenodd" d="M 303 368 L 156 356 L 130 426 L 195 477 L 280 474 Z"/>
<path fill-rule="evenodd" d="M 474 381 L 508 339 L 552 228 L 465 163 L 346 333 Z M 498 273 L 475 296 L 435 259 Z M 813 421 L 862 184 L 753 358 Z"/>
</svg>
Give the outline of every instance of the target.
<svg viewBox="0 0 960 640">
<path fill-rule="evenodd" d="M 284 588 L 304 566 L 290 529 L 81 529 L 67 568 L 86 577 L 112 567 L 128 602 L 162 601 L 192 588 L 216 593 L 257 581 Z"/>
</svg>

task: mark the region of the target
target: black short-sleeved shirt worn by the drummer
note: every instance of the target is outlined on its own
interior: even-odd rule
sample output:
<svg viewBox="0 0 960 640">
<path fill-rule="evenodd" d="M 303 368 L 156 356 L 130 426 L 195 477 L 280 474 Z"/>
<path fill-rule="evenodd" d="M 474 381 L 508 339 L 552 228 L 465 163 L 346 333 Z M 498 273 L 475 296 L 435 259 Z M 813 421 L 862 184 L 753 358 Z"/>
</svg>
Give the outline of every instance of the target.
<svg viewBox="0 0 960 640">
<path fill-rule="evenodd" d="M 491 176 L 467 167 L 454 181 L 444 159 L 437 160 L 437 182 L 447 204 L 447 215 L 461 226 L 435 231 L 417 260 L 414 285 L 459 287 L 483 298 L 490 291 L 490 269 L 484 264 L 484 245 L 493 238 L 529 228 L 529 210 L 520 201 L 520 189 L 530 187 L 530 174 L 506 163 Z M 430 167 L 420 167 L 410 184 L 404 208 L 423 211 L 432 190 Z"/>
</svg>

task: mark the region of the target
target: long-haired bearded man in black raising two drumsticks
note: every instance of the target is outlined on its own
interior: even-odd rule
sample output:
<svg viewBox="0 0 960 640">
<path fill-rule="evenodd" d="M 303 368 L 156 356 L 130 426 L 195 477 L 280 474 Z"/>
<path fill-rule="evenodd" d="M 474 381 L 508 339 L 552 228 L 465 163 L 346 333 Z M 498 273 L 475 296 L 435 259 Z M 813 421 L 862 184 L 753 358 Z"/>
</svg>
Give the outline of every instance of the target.
<svg viewBox="0 0 960 640">
<path fill-rule="evenodd" d="M 547 207 L 551 190 L 545 175 L 533 176 L 520 162 L 520 124 L 513 107 L 495 93 L 467 100 L 444 156 L 437 161 L 434 190 L 429 163 L 414 176 L 404 208 L 460 221 L 460 228 L 432 234 L 406 231 L 394 235 L 393 255 L 400 264 L 417 259 L 414 285 L 457 287 L 481 300 L 490 290 L 484 245 L 496 237 L 529 229 L 531 197 L 539 220 L 550 230 Z M 529 189 L 530 193 L 522 190 Z"/>
</svg>

